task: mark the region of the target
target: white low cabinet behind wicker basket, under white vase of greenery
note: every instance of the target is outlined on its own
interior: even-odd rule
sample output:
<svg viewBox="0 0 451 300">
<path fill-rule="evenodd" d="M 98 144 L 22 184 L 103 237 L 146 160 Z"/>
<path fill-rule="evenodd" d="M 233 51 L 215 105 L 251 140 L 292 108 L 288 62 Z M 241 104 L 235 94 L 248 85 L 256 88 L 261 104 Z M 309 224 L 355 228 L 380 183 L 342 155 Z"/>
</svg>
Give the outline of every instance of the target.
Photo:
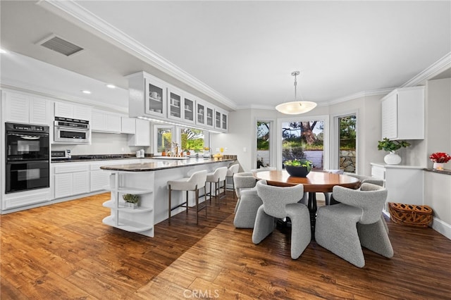
<svg viewBox="0 0 451 300">
<path fill-rule="evenodd" d="M 371 163 L 371 176 L 385 180 L 387 203 L 424 205 L 423 173 L 423 167 L 419 166 Z"/>
</svg>

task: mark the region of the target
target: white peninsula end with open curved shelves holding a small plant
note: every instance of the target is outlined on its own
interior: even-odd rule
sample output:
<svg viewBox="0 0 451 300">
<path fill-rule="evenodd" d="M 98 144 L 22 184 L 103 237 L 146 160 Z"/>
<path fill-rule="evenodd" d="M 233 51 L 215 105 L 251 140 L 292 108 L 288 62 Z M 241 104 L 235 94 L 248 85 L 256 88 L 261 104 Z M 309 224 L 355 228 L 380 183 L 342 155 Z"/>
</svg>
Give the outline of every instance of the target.
<svg viewBox="0 0 451 300">
<path fill-rule="evenodd" d="M 111 215 L 102 222 L 121 230 L 154 237 L 154 191 L 151 188 L 154 187 L 154 172 L 105 172 L 111 174 L 111 199 L 104 202 L 103 206 L 111 209 Z M 139 206 L 135 209 L 125 207 L 124 194 L 139 195 Z"/>
</svg>

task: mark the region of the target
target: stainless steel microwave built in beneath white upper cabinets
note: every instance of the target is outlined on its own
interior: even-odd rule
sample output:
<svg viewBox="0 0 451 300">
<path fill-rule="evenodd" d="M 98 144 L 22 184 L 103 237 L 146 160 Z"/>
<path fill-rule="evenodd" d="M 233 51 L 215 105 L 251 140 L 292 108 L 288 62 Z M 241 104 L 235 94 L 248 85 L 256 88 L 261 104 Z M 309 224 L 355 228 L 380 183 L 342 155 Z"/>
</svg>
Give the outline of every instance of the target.
<svg viewBox="0 0 451 300">
<path fill-rule="evenodd" d="M 89 121 L 55 117 L 54 142 L 61 144 L 89 144 Z"/>
</svg>

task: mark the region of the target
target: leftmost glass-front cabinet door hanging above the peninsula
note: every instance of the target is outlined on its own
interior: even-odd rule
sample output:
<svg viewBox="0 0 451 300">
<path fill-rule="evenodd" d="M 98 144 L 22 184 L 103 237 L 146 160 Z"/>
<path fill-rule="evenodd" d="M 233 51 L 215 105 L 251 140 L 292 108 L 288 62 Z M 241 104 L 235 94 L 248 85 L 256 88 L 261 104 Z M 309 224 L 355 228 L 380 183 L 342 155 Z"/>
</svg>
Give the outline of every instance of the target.
<svg viewBox="0 0 451 300">
<path fill-rule="evenodd" d="M 146 113 L 163 117 L 166 115 L 166 85 L 152 77 L 145 77 Z"/>
</svg>

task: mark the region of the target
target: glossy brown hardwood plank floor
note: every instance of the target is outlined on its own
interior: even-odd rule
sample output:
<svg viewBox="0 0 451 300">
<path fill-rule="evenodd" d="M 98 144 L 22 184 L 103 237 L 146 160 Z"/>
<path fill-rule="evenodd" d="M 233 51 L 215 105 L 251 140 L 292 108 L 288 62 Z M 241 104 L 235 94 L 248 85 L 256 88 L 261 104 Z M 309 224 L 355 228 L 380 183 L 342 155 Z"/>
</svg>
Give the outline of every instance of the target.
<svg viewBox="0 0 451 300">
<path fill-rule="evenodd" d="M 231 194 L 230 194 L 231 195 Z M 451 299 L 451 241 L 388 220 L 392 259 L 364 249 L 356 268 L 315 242 L 290 258 L 287 230 L 252 244 L 236 199 L 155 237 L 101 223 L 109 194 L 1 215 L 1 299 Z"/>
</svg>

